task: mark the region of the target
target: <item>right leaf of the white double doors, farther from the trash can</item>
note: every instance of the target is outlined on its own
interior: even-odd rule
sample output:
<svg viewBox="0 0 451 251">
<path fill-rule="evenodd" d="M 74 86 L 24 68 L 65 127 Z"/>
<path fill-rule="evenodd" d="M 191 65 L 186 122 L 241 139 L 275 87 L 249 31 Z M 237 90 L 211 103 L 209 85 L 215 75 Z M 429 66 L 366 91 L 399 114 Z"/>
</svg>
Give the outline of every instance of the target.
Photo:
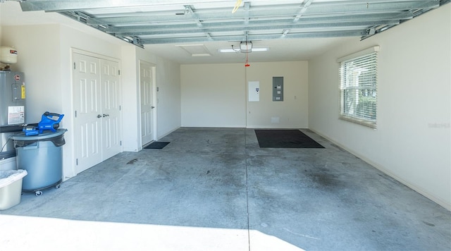
<svg viewBox="0 0 451 251">
<path fill-rule="evenodd" d="M 121 152 L 121 78 L 119 63 L 100 60 L 102 159 Z"/>
</svg>

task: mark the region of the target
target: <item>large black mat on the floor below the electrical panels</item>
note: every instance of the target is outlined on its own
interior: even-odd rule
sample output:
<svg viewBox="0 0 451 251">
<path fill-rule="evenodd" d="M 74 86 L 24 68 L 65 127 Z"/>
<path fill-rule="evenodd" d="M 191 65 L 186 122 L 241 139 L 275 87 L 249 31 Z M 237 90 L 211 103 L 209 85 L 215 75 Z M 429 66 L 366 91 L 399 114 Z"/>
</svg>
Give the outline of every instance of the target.
<svg viewBox="0 0 451 251">
<path fill-rule="evenodd" d="M 261 148 L 324 148 L 300 130 L 255 130 Z"/>
</svg>

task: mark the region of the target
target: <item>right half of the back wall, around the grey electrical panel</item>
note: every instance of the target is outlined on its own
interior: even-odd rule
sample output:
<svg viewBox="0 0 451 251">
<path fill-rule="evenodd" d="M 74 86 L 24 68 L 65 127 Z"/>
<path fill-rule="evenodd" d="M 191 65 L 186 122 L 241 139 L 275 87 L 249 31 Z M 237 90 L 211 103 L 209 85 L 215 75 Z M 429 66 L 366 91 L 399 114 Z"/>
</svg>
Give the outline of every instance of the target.
<svg viewBox="0 0 451 251">
<path fill-rule="evenodd" d="M 248 128 L 308 127 L 307 61 L 251 63 L 246 76 L 260 82 L 260 101 L 247 102 Z M 283 77 L 283 102 L 273 102 L 273 77 Z"/>
</svg>

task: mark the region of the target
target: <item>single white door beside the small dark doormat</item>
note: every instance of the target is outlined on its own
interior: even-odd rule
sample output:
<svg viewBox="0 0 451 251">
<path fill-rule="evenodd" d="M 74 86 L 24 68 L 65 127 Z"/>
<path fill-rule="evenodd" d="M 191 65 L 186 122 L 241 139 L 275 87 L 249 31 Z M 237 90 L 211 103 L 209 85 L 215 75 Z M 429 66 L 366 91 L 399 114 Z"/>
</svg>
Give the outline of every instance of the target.
<svg viewBox="0 0 451 251">
<path fill-rule="evenodd" d="M 140 99 L 141 99 L 141 143 L 147 145 L 154 140 L 153 133 L 153 88 L 154 66 L 140 62 Z"/>
</svg>

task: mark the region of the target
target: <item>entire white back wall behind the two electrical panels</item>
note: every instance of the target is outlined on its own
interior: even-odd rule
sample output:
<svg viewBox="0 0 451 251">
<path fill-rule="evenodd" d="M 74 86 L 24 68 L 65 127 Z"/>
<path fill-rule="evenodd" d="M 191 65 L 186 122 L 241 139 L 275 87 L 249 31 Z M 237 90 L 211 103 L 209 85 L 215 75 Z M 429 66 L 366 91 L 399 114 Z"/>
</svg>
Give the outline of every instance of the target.
<svg viewBox="0 0 451 251">
<path fill-rule="evenodd" d="M 307 128 L 307 61 L 183 65 L 181 76 L 183 126 Z M 272 101 L 273 77 L 284 77 L 283 102 Z M 259 102 L 247 102 L 247 81 L 260 82 Z"/>
</svg>

